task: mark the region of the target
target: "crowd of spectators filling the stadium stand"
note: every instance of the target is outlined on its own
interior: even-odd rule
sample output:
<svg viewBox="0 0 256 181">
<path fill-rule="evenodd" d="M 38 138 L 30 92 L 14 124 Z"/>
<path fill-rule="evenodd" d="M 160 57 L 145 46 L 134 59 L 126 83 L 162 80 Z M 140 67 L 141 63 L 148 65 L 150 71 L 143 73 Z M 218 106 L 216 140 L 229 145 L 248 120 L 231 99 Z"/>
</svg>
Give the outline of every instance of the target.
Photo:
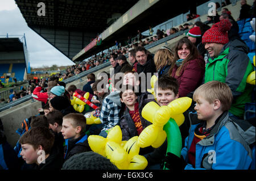
<svg viewBox="0 0 256 181">
<path fill-rule="evenodd" d="M 243 9 L 246 1 L 242 0 L 241 5 Z M 253 15 L 248 12 L 241 10 L 238 20 L 251 18 Z M 142 116 L 147 103 L 155 102 L 162 107 L 186 96 L 193 102 L 184 112 L 185 120 L 179 127 L 180 157 L 167 153 L 168 140 L 159 148 L 141 148 L 139 154 L 148 162 L 146 169 L 255 169 L 255 117 L 243 120 L 245 104 L 255 102 L 255 86 L 246 83 L 254 66 L 230 11 L 224 9 L 218 17 L 216 20 L 209 16 L 206 23 L 184 24 L 180 30 L 171 29 L 166 35 L 159 30 L 156 36 L 151 34 L 152 40 L 142 41 L 138 35 L 136 43 L 128 40 L 129 46 L 93 56 L 68 68 L 64 74 L 32 81 L 27 94 L 42 102 L 42 109 L 39 115 L 24 120 L 27 127 L 19 129 L 20 139 L 14 149 L 7 143 L 0 121 L 0 144 L 4 148 L 0 152 L 0 169 L 118 169 L 90 149 L 88 136 L 106 138 L 119 125 L 122 141 L 127 141 L 152 124 Z M 188 15 L 189 18 L 199 15 Z M 155 54 L 144 48 L 184 27 L 188 30 L 186 36 L 174 48 L 163 46 Z M 102 72 L 108 77 L 105 82 L 94 73 L 87 75 L 82 90 L 75 85 L 66 87 L 61 81 L 108 61 L 113 72 Z M 117 76 L 118 73 L 122 76 Z M 141 74 L 146 76 L 138 77 Z M 143 83 L 154 74 L 158 86 L 154 92 L 148 92 L 151 86 L 145 87 Z M 97 108 L 79 111 L 72 105 L 75 92 L 81 96 L 89 92 L 88 100 Z M 88 113 L 99 117 L 101 123 L 86 124 Z M 40 150 L 46 154 L 44 162 L 38 160 Z M 209 154 L 212 150 L 214 157 Z"/>
</svg>

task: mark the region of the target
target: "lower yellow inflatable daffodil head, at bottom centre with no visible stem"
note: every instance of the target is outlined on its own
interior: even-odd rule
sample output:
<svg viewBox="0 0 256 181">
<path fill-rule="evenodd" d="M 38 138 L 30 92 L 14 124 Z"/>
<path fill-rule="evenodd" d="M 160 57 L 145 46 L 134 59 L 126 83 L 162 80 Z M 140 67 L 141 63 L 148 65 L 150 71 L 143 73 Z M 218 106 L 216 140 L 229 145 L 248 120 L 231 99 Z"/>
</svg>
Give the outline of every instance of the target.
<svg viewBox="0 0 256 181">
<path fill-rule="evenodd" d="M 138 136 L 122 141 L 122 131 L 118 125 L 109 131 L 106 138 L 98 135 L 88 137 L 90 149 L 109 158 L 121 170 L 143 170 L 147 167 L 147 159 L 139 155 L 137 142 Z"/>
</svg>

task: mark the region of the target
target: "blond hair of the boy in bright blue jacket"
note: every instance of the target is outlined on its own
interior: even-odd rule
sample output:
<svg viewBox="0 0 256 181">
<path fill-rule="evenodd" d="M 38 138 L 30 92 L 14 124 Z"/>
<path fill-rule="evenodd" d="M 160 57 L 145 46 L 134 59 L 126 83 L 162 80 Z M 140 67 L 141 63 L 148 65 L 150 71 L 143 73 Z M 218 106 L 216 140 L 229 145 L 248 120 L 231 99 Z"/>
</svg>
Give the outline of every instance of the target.
<svg viewBox="0 0 256 181">
<path fill-rule="evenodd" d="M 229 86 L 219 81 L 210 81 L 198 87 L 193 94 L 193 99 L 196 100 L 199 96 L 210 104 L 215 99 L 220 100 L 222 111 L 228 111 L 233 101 L 232 91 Z"/>
</svg>

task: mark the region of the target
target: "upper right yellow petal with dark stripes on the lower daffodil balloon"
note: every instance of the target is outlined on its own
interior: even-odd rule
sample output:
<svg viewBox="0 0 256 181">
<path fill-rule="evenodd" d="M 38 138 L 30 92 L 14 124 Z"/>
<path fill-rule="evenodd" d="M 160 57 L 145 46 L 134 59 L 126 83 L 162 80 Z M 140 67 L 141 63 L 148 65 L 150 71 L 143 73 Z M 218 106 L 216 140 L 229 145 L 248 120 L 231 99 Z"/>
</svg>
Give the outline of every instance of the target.
<svg viewBox="0 0 256 181">
<path fill-rule="evenodd" d="M 130 138 L 123 146 L 123 149 L 129 154 L 128 159 L 133 158 L 134 155 L 139 154 L 139 146 L 137 144 L 138 136 Z"/>
</svg>

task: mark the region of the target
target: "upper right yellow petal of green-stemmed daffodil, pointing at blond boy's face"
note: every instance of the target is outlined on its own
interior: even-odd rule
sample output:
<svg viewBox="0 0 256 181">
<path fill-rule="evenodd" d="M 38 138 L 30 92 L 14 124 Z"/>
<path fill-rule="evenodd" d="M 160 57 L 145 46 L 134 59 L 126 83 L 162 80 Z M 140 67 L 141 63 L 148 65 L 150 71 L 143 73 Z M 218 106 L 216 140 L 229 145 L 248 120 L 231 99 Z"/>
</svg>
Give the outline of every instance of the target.
<svg viewBox="0 0 256 181">
<path fill-rule="evenodd" d="M 171 108 L 171 115 L 178 115 L 185 112 L 192 103 L 192 99 L 188 97 L 183 97 L 179 99 L 172 100 L 168 106 Z"/>
</svg>

